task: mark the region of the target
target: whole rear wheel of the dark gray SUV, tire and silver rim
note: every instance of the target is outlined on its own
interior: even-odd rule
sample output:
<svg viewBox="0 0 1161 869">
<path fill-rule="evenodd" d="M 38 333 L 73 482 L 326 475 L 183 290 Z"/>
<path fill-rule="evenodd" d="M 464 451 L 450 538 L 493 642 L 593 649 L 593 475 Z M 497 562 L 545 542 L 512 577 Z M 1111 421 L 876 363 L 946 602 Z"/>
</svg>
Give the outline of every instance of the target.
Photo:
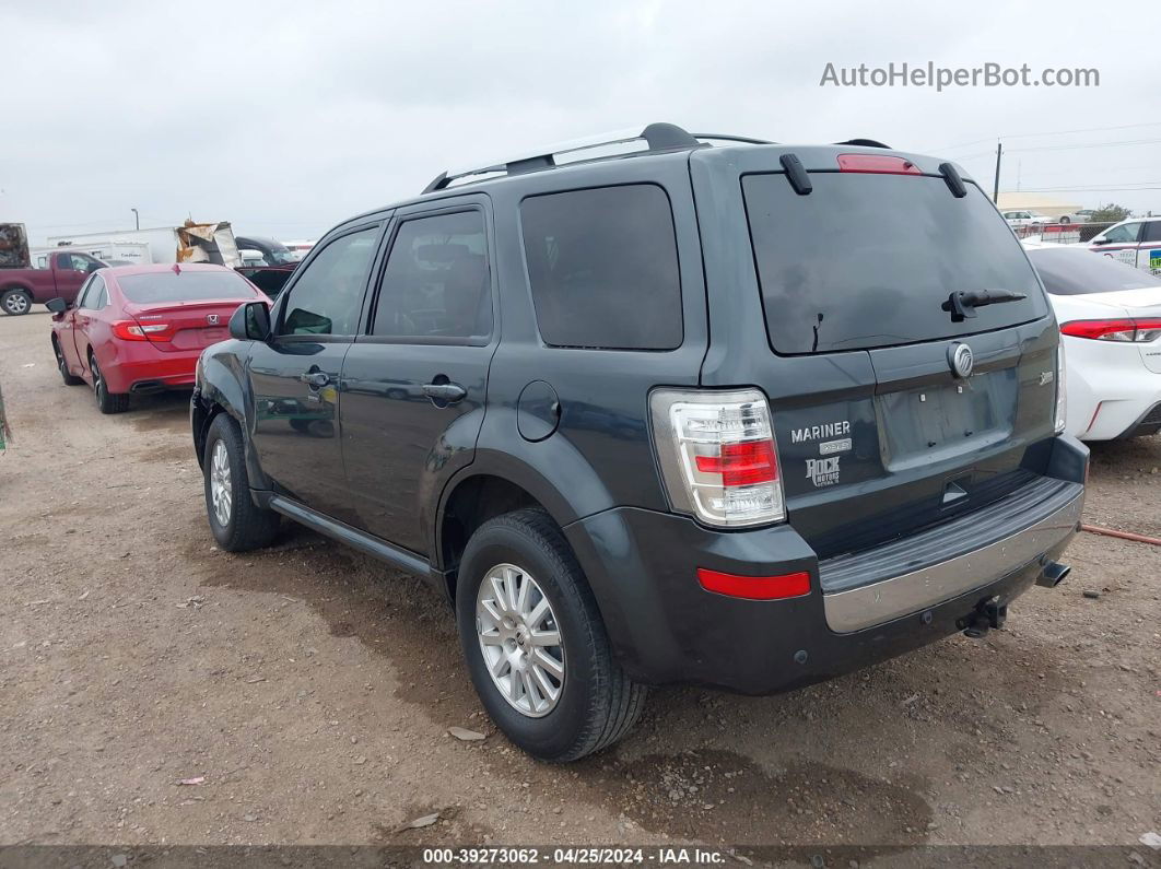
<svg viewBox="0 0 1161 869">
<path fill-rule="evenodd" d="M 509 513 L 476 530 L 455 607 L 476 693 L 528 754 L 577 760 L 636 723 L 646 688 L 613 657 L 580 565 L 542 510 Z"/>
</svg>

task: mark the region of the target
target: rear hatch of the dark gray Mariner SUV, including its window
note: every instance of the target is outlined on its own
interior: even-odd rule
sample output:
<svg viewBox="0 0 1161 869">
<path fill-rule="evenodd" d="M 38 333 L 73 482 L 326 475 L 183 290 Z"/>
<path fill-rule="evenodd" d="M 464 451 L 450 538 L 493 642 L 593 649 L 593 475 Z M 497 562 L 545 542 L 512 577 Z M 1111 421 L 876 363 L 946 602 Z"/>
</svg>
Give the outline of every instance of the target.
<svg viewBox="0 0 1161 869">
<path fill-rule="evenodd" d="M 1036 273 L 974 183 L 957 197 L 933 161 L 805 151 L 809 193 L 781 171 L 785 150 L 735 149 L 705 178 L 720 191 L 733 174 L 749 249 L 708 246 L 714 346 L 702 382 L 765 390 L 788 522 L 825 558 L 1034 480 L 1053 435 L 1058 335 Z M 742 288 L 724 291 L 712 271 L 730 248 L 749 262 L 731 269 Z M 979 290 L 1023 298 L 966 317 L 945 310 L 952 294 Z M 962 360 L 956 370 L 961 345 L 969 372 Z"/>
</svg>

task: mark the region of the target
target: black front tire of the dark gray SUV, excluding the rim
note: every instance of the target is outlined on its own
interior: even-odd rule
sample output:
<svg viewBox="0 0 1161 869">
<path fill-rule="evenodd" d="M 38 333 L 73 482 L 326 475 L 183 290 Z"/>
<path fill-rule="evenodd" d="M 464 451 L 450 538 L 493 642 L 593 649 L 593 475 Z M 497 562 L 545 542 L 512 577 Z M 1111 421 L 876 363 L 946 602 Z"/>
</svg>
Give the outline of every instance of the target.
<svg viewBox="0 0 1161 869">
<path fill-rule="evenodd" d="M 215 510 L 212 494 L 214 454 L 218 443 L 225 449 L 229 462 L 230 509 L 223 523 Z M 279 514 L 254 504 L 250 495 L 250 477 L 246 473 L 246 452 L 241 440 L 241 428 L 226 413 L 219 413 L 210 423 L 202 454 L 203 490 L 205 492 L 205 516 L 214 539 L 228 552 L 246 552 L 266 546 L 279 531 Z"/>
</svg>

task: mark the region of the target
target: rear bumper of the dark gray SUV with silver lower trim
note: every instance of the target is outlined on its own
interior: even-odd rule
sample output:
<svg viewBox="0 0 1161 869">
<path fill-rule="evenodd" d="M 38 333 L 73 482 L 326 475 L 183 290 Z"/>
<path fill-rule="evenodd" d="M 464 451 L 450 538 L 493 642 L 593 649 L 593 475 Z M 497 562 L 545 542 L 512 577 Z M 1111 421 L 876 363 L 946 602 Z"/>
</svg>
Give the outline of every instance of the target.
<svg viewBox="0 0 1161 869">
<path fill-rule="evenodd" d="M 1067 548 L 1083 507 L 1087 450 L 1073 439 L 1053 447 L 1054 472 L 1072 479 L 1033 484 L 1044 497 L 1025 500 L 1017 517 L 988 526 L 985 514 L 998 519 L 1002 501 L 823 562 L 821 581 L 813 550 L 785 524 L 714 531 L 685 516 L 618 508 L 575 522 L 565 534 L 630 676 L 744 694 L 789 690 L 960 631 L 983 602 L 1007 606 L 1027 591 L 1044 564 Z M 1004 501 L 1026 494 L 1021 490 Z M 986 538 L 957 537 L 952 526 L 964 522 L 990 531 Z M 937 542 L 949 545 L 932 550 Z M 890 564 L 893 574 L 878 578 Z M 807 571 L 810 593 L 774 601 L 729 598 L 701 588 L 698 567 L 740 575 Z M 867 575 L 874 581 L 864 581 Z"/>
</svg>

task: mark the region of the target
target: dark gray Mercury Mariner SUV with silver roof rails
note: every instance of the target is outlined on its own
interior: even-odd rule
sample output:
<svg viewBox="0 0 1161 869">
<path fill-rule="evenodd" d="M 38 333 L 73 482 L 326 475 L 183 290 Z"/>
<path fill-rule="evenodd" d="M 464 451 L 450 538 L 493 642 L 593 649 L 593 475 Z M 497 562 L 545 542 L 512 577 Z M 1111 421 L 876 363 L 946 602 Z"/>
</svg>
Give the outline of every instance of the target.
<svg viewBox="0 0 1161 869">
<path fill-rule="evenodd" d="M 1002 627 L 1084 497 L 1051 307 L 954 165 L 628 139 L 339 225 L 192 404 L 223 549 L 289 516 L 427 577 L 553 761 L 644 686 L 780 691 Z"/>
</svg>

